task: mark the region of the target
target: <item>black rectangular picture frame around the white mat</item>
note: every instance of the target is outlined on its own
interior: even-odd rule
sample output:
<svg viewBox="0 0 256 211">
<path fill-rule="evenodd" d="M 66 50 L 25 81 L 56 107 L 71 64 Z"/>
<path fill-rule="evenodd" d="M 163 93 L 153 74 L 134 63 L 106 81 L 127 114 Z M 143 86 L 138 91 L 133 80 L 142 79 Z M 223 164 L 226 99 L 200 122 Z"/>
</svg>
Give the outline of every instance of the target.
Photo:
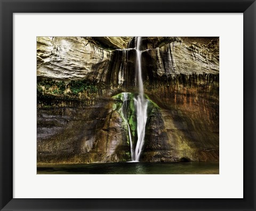
<svg viewBox="0 0 256 211">
<path fill-rule="evenodd" d="M 1 210 L 256 210 L 255 0 L 0 0 Z M 13 198 L 13 13 L 243 13 L 243 199 L 17 199 Z M 231 158 L 230 161 L 235 160 Z M 28 184 L 29 185 L 29 184 Z M 220 190 L 221 191 L 221 190 Z"/>
</svg>

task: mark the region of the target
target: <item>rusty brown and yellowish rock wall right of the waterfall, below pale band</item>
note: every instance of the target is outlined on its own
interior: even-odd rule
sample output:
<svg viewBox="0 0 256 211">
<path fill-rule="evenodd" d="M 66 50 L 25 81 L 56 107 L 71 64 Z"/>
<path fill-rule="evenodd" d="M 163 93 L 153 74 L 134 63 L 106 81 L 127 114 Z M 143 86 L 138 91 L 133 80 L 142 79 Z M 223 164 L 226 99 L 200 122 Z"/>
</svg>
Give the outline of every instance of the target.
<svg viewBox="0 0 256 211">
<path fill-rule="evenodd" d="M 200 76 L 180 75 L 147 91 L 161 109 L 148 120 L 142 160 L 219 160 L 219 79 Z"/>
</svg>

